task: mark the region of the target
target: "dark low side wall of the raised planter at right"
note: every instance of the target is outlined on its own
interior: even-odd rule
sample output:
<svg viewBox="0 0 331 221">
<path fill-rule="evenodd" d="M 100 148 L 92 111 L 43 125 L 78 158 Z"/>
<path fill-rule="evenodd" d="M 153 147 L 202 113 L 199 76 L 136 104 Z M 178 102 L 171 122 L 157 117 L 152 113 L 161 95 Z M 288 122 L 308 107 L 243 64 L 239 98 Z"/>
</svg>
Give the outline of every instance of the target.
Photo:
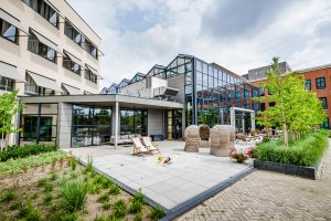
<svg viewBox="0 0 331 221">
<path fill-rule="evenodd" d="M 307 177 L 310 179 L 317 178 L 318 166 L 319 164 L 317 164 L 314 167 L 303 167 L 303 166 L 293 166 L 293 165 L 286 165 L 279 162 L 261 161 L 258 159 L 254 160 L 254 168 L 284 172 L 286 175 L 296 175 L 296 176 Z"/>
</svg>

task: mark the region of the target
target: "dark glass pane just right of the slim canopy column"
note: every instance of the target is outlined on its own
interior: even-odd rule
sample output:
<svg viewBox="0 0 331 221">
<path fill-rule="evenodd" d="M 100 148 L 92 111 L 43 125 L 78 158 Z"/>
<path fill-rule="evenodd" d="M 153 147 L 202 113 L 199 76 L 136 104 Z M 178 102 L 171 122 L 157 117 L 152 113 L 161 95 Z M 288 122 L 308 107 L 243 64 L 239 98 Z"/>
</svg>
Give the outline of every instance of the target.
<svg viewBox="0 0 331 221">
<path fill-rule="evenodd" d="M 120 109 L 120 135 L 147 136 L 147 109 Z"/>
</svg>

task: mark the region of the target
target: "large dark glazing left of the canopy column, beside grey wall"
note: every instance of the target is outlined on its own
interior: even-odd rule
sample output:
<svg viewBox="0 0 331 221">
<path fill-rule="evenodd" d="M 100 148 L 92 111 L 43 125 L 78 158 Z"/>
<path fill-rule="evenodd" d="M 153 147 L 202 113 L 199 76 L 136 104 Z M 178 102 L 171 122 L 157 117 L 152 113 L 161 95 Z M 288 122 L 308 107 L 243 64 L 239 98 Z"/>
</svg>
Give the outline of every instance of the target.
<svg viewBox="0 0 331 221">
<path fill-rule="evenodd" d="M 111 137 L 111 107 L 73 105 L 72 147 L 107 144 Z"/>
</svg>

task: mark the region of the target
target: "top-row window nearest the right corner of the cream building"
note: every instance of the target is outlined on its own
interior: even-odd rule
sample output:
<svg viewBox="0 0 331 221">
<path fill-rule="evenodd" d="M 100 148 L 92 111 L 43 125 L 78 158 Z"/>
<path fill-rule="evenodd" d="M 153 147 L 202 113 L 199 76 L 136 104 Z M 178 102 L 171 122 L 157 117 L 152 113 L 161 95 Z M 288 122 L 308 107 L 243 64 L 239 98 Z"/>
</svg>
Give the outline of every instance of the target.
<svg viewBox="0 0 331 221">
<path fill-rule="evenodd" d="M 93 57 L 98 59 L 97 48 L 88 41 L 78 30 L 76 30 L 70 21 L 64 22 L 64 34 L 89 53 Z"/>
</svg>

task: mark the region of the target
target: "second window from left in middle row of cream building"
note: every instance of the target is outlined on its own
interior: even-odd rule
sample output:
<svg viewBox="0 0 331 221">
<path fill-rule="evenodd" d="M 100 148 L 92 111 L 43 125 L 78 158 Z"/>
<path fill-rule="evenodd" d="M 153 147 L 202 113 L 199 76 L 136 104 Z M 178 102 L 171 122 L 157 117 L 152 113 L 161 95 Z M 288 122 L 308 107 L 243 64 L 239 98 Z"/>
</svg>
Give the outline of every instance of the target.
<svg viewBox="0 0 331 221">
<path fill-rule="evenodd" d="M 56 51 L 40 42 L 32 32 L 30 32 L 28 39 L 28 50 L 51 62 L 56 63 Z"/>
</svg>

